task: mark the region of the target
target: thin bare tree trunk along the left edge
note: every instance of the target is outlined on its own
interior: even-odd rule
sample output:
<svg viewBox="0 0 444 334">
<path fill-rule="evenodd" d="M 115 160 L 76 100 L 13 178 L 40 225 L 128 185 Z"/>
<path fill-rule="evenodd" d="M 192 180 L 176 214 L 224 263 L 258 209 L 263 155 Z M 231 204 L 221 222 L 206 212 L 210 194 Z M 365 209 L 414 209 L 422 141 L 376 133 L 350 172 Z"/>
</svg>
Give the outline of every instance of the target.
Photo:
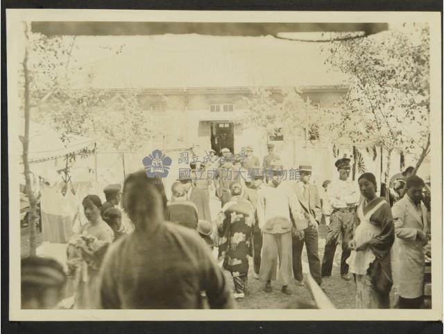
<svg viewBox="0 0 444 334">
<path fill-rule="evenodd" d="M 26 185 L 26 196 L 29 201 L 29 213 L 28 213 L 28 228 L 29 228 L 29 254 L 28 256 L 35 256 L 37 249 L 37 238 L 36 238 L 36 222 L 38 219 L 37 215 L 37 199 L 33 191 L 33 185 L 31 183 L 31 169 L 29 168 L 28 161 L 28 150 L 29 150 L 29 113 L 30 113 L 30 103 L 29 103 L 29 74 L 28 74 L 28 24 L 25 22 L 25 37 L 26 37 L 26 47 L 23 60 L 23 72 L 24 72 L 24 136 L 20 137 L 23 144 L 23 166 L 24 166 L 24 176 Z M 22 254 L 23 255 L 23 254 Z"/>
</svg>

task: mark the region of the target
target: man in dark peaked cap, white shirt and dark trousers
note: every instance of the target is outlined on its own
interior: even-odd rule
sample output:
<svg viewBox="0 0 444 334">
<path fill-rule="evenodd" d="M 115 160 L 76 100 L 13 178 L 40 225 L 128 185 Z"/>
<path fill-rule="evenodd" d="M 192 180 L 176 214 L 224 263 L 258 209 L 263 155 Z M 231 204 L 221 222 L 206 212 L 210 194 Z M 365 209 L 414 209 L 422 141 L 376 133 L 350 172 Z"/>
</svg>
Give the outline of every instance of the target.
<svg viewBox="0 0 444 334">
<path fill-rule="evenodd" d="M 350 177 L 350 159 L 341 158 L 334 165 L 338 169 L 339 179 L 332 181 L 327 189 L 327 197 L 332 206 L 332 213 L 327 237 L 325 237 L 325 251 L 321 271 L 325 278 L 332 276 L 336 245 L 342 239 L 341 277 L 345 281 L 350 281 L 348 264 L 345 261 L 351 253 L 348 244 L 352 240 L 355 208 L 361 194 L 357 182 L 348 179 Z"/>
</svg>

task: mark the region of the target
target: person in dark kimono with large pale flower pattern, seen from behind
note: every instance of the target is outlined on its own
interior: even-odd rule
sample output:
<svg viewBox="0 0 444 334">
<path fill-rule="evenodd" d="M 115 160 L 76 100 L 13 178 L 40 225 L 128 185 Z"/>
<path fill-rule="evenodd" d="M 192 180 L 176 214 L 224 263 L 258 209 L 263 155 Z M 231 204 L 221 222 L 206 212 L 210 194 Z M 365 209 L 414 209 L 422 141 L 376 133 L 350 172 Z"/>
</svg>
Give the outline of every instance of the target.
<svg viewBox="0 0 444 334">
<path fill-rule="evenodd" d="M 247 289 L 248 256 L 253 256 L 253 206 L 242 198 L 241 183 L 230 184 L 232 198 L 225 203 L 218 219 L 219 258 L 234 281 L 234 298 L 243 301 Z"/>
</svg>

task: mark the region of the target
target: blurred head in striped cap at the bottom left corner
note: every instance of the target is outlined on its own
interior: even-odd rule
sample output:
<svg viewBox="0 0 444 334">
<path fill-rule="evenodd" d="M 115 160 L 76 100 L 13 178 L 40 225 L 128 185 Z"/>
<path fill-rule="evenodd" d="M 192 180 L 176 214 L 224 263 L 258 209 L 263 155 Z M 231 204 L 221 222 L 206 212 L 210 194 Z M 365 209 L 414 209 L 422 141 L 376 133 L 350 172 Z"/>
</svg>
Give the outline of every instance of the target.
<svg viewBox="0 0 444 334">
<path fill-rule="evenodd" d="M 23 258 L 22 309 L 56 308 L 67 281 L 62 265 L 51 258 Z"/>
</svg>

